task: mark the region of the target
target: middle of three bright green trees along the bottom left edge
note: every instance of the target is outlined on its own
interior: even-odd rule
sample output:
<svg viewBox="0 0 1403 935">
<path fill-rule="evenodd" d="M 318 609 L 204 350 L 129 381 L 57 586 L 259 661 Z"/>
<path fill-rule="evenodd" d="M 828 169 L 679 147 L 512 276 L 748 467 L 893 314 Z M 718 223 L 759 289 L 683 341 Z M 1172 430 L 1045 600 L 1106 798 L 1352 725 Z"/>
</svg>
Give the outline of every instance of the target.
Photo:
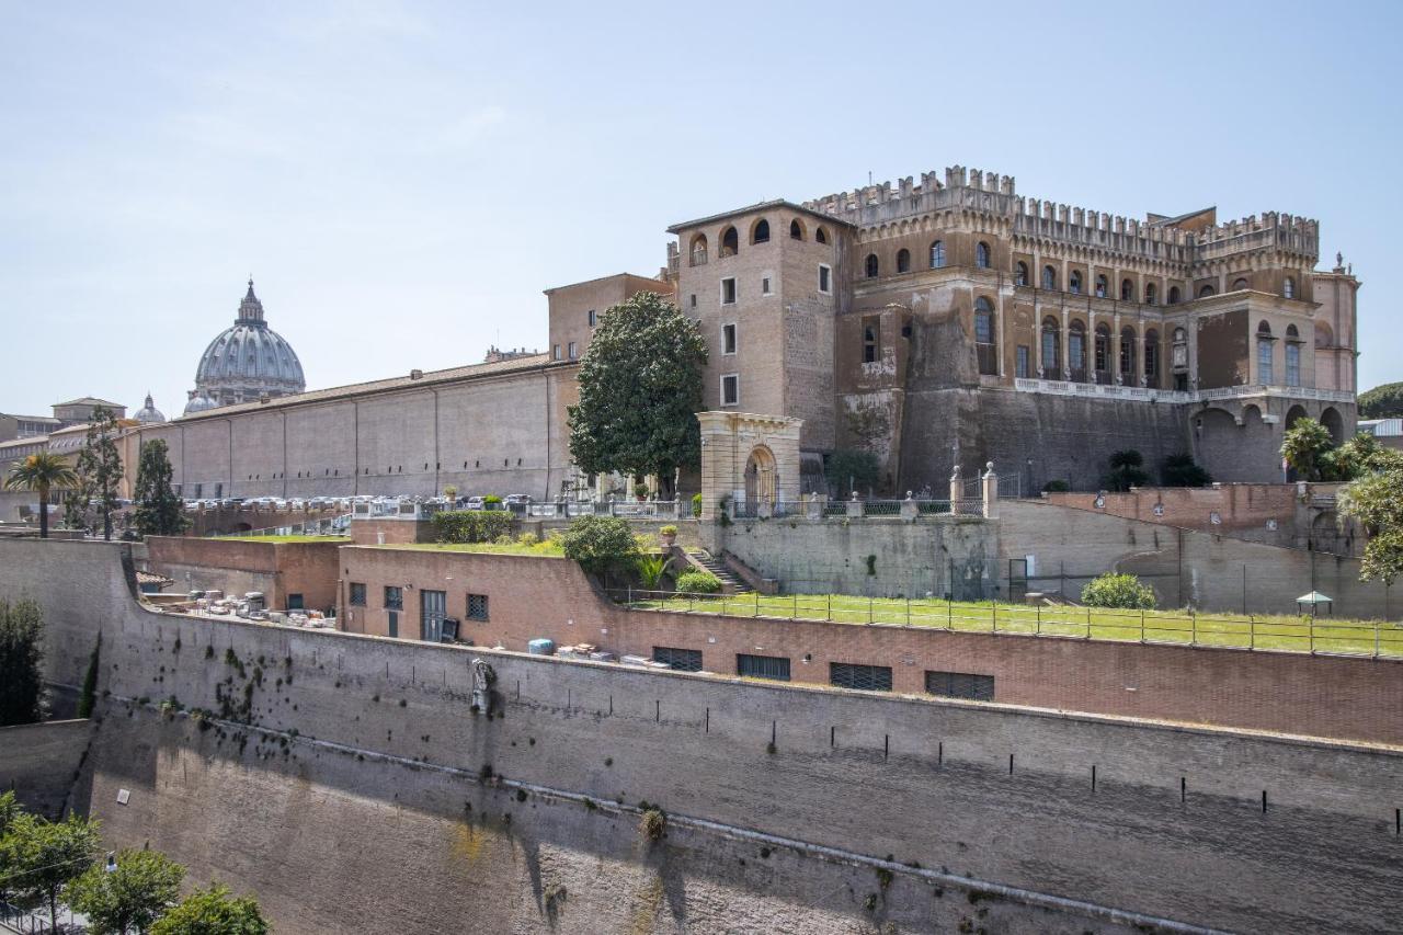
<svg viewBox="0 0 1403 935">
<path fill-rule="evenodd" d="M 185 868 L 159 851 L 119 851 L 116 868 L 94 863 L 69 884 L 65 901 L 88 918 L 94 935 L 145 935 L 180 897 Z"/>
</svg>

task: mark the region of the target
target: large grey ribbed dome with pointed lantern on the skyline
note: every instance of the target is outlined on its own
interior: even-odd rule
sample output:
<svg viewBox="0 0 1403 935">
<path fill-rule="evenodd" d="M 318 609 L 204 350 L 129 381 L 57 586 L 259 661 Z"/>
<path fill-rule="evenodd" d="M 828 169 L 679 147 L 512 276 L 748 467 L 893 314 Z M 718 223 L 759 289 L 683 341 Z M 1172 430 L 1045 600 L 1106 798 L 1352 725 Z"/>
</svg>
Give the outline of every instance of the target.
<svg viewBox="0 0 1403 935">
<path fill-rule="evenodd" d="M 307 387 L 302 361 L 288 341 L 264 321 L 254 281 L 239 303 L 239 317 L 209 343 L 195 369 L 195 390 L 215 406 L 288 396 Z M 196 397 L 198 399 L 198 397 Z M 192 399 L 191 404 L 196 400 Z M 185 407 L 189 413 L 189 406 Z"/>
</svg>

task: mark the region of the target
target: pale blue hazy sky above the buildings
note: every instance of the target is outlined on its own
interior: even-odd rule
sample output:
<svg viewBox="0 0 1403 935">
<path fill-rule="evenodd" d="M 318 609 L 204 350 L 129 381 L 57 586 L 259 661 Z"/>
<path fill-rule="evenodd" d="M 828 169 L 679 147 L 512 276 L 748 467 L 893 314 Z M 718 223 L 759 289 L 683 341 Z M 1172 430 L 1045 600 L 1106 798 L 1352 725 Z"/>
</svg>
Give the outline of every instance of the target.
<svg viewBox="0 0 1403 935">
<path fill-rule="evenodd" d="M 1403 3 L 550 7 L 0 0 L 0 411 L 177 414 L 250 272 L 309 387 L 544 348 L 672 222 L 951 164 L 1319 218 L 1403 379 Z"/>
</svg>

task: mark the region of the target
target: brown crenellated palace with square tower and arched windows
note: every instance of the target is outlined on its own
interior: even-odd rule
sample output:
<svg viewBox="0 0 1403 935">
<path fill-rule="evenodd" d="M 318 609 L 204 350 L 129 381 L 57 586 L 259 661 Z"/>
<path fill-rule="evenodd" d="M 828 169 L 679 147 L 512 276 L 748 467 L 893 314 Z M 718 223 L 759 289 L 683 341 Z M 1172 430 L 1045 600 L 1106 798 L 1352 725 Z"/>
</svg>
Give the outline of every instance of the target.
<svg viewBox="0 0 1403 935">
<path fill-rule="evenodd" d="M 894 491 L 988 460 L 1092 489 L 1124 448 L 1270 480 L 1294 420 L 1354 430 L 1360 282 L 1315 271 L 1315 220 L 1134 220 L 953 167 L 669 233 L 706 407 L 803 418 L 805 489 L 836 448 Z"/>
</svg>

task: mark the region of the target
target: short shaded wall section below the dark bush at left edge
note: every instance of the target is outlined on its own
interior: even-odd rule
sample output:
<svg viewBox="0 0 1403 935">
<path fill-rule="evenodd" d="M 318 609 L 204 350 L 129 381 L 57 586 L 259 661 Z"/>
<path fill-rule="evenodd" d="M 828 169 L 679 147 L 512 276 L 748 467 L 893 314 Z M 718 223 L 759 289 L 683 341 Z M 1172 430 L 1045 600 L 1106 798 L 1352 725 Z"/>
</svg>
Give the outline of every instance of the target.
<svg viewBox="0 0 1403 935">
<path fill-rule="evenodd" d="M 21 806 L 58 818 L 91 737 L 87 719 L 0 727 L 0 792 L 14 789 Z"/>
</svg>

